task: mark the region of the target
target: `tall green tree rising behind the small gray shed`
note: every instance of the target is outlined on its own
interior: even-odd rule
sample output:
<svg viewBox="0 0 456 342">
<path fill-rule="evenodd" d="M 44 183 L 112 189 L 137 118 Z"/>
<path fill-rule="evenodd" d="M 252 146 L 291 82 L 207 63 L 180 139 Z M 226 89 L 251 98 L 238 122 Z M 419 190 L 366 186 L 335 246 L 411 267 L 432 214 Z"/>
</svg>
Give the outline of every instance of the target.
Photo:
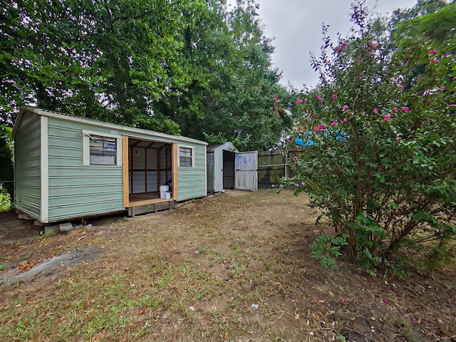
<svg viewBox="0 0 456 342">
<path fill-rule="evenodd" d="M 192 138 L 267 149 L 290 119 L 284 110 L 274 113 L 276 96 L 286 102 L 288 94 L 271 68 L 273 48 L 257 19 L 257 4 L 239 1 L 232 11 L 218 1 L 207 4 L 182 14 L 187 27 L 181 68 L 189 82 L 172 88 L 156 108 Z"/>
</svg>

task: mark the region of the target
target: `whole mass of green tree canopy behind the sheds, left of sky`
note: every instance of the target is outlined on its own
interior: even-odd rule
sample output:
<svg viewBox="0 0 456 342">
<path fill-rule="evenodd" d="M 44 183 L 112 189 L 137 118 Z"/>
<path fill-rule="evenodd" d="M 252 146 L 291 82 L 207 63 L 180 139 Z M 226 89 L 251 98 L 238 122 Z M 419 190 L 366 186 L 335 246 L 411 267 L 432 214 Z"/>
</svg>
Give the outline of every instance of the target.
<svg viewBox="0 0 456 342">
<path fill-rule="evenodd" d="M 24 104 L 266 149 L 289 123 L 253 0 L 2 1 L 0 115 Z M 276 115 L 277 114 L 277 115 Z"/>
</svg>

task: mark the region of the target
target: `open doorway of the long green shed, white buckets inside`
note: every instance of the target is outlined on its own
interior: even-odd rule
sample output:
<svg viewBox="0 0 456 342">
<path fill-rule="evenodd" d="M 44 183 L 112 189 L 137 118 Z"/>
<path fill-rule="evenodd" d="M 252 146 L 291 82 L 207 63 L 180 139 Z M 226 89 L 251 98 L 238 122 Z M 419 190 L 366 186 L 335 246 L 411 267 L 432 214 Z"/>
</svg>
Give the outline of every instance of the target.
<svg viewBox="0 0 456 342">
<path fill-rule="evenodd" d="M 173 144 L 129 137 L 129 206 L 172 200 L 172 197 L 170 199 L 160 198 L 160 185 L 169 185 L 170 192 L 175 185 L 173 182 Z"/>
</svg>

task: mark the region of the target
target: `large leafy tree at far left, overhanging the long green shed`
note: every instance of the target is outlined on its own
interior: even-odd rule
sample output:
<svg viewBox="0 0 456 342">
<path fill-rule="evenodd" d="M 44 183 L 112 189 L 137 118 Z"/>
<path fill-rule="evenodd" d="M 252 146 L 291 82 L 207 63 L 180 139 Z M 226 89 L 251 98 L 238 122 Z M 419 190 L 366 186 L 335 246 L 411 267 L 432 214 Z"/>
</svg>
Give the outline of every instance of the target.
<svg viewBox="0 0 456 342">
<path fill-rule="evenodd" d="M 165 0 L 2 4 L 2 120 L 21 105 L 178 133 L 152 100 L 170 83 L 180 25 Z M 160 10 L 159 10 L 160 9 Z M 173 82 L 179 78 L 173 73 Z"/>
</svg>

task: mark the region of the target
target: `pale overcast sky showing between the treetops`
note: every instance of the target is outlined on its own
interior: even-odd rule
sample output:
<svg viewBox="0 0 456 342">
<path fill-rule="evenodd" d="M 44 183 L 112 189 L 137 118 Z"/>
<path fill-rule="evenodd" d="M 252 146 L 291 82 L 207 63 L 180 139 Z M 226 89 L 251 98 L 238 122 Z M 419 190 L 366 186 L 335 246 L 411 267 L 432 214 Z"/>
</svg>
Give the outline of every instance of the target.
<svg viewBox="0 0 456 342">
<path fill-rule="evenodd" d="M 259 16 L 267 37 L 275 38 L 272 45 L 274 67 L 283 71 L 281 82 L 296 88 L 315 86 L 318 75 L 309 62 L 310 52 L 319 56 L 321 24 L 330 25 L 329 33 L 336 42 L 336 34 L 348 33 L 348 19 L 353 0 L 257 0 Z M 375 0 L 367 0 L 373 9 Z M 394 9 L 413 7 L 417 0 L 378 0 L 375 11 L 391 14 Z"/>
</svg>

